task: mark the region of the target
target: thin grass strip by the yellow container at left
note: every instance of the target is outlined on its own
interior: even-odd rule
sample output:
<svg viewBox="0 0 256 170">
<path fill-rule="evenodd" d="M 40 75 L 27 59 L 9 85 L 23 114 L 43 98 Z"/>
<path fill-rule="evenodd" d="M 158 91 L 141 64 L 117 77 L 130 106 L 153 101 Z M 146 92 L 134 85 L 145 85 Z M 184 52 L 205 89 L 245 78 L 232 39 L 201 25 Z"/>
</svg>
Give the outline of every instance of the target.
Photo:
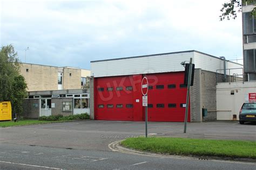
<svg viewBox="0 0 256 170">
<path fill-rule="evenodd" d="M 68 121 L 38 121 L 38 120 L 22 120 L 18 122 L 14 121 L 0 121 L 0 127 L 19 126 L 19 125 L 34 125 L 34 124 L 46 124 L 46 123 L 59 123 Z"/>
</svg>

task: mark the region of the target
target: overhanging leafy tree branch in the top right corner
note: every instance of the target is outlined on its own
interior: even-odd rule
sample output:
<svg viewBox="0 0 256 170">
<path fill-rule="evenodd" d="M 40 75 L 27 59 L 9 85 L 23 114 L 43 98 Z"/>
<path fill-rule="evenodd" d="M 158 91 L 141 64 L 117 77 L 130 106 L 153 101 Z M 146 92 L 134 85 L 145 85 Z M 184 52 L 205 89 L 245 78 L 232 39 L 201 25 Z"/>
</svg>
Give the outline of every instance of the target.
<svg viewBox="0 0 256 170">
<path fill-rule="evenodd" d="M 220 20 L 230 20 L 230 18 L 237 18 L 237 12 L 241 12 L 242 5 L 245 4 L 253 4 L 255 5 L 255 0 L 230 0 L 230 2 L 224 3 L 223 7 L 220 9 L 222 12 Z M 256 8 L 252 11 L 252 16 L 256 16 Z"/>
</svg>

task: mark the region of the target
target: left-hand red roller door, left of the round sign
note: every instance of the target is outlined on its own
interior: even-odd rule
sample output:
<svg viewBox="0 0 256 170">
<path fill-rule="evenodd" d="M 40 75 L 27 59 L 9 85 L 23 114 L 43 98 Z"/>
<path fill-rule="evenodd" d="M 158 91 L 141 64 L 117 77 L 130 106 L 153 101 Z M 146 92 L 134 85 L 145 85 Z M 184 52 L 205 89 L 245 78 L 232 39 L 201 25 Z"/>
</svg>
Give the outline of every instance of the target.
<svg viewBox="0 0 256 170">
<path fill-rule="evenodd" d="M 132 82 L 131 76 L 95 78 L 95 119 L 133 121 L 133 90 L 126 90 L 126 87 L 132 87 Z M 123 90 L 117 90 L 119 87 Z M 113 90 L 108 91 L 107 88 Z M 127 104 L 132 104 L 132 108 L 131 105 L 127 108 Z M 108 105 L 113 105 L 113 108 L 107 108 Z M 123 107 L 118 108 L 121 105 Z"/>
</svg>

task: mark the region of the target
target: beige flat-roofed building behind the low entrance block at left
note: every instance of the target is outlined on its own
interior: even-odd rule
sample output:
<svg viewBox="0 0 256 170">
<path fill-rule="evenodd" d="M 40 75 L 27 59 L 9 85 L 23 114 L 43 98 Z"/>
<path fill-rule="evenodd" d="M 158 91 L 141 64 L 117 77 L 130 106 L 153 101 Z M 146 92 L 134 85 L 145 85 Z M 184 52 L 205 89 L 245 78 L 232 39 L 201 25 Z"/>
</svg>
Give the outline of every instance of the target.
<svg viewBox="0 0 256 170">
<path fill-rule="evenodd" d="M 73 67 L 54 67 L 22 63 L 28 91 L 81 89 L 89 85 L 91 71 Z"/>
</svg>

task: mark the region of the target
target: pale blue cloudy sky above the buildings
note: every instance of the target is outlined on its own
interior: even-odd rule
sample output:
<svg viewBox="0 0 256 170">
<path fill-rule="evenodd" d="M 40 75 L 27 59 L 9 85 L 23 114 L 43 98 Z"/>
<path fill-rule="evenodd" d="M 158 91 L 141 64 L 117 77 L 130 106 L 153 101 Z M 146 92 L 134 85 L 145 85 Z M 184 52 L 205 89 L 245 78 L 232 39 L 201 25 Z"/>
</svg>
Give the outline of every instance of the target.
<svg viewBox="0 0 256 170">
<path fill-rule="evenodd" d="M 12 44 L 21 62 L 83 69 L 188 50 L 242 59 L 241 13 L 219 20 L 227 1 L 0 0 L 0 44 Z"/>
</svg>

